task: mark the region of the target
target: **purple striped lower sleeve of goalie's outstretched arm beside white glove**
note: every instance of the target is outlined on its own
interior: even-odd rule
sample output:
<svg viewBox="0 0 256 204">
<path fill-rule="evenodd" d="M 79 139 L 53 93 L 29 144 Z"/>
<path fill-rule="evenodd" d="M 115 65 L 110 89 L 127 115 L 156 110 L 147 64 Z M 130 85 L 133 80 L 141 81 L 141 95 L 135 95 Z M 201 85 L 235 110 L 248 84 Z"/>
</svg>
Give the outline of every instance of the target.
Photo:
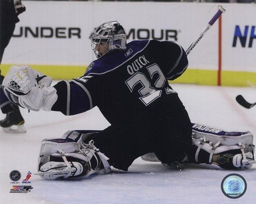
<svg viewBox="0 0 256 204">
<path fill-rule="evenodd" d="M 72 81 L 60 81 L 55 84 L 58 99 L 51 111 L 59 111 L 64 115 L 76 115 L 91 109 L 92 99 L 83 82 L 73 79 Z"/>
</svg>

